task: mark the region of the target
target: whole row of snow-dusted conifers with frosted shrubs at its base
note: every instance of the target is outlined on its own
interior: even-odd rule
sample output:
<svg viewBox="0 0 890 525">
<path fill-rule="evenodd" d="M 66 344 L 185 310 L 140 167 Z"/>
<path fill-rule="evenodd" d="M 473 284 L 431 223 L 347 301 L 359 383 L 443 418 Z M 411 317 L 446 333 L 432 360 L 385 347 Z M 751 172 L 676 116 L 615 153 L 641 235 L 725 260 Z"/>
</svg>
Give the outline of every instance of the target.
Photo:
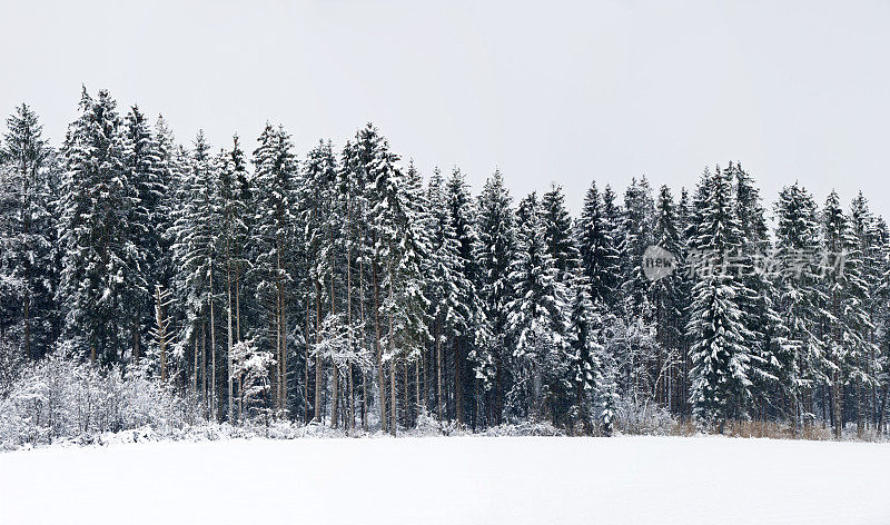
<svg viewBox="0 0 890 525">
<path fill-rule="evenodd" d="M 369 123 L 305 148 L 257 131 L 177 140 L 86 89 L 61 143 L 28 106 L 9 117 L 0 442 L 888 430 L 890 230 L 861 192 L 767 202 L 732 161 L 694 188 L 591 181 L 573 217 L 557 185 L 421 174 Z"/>
</svg>

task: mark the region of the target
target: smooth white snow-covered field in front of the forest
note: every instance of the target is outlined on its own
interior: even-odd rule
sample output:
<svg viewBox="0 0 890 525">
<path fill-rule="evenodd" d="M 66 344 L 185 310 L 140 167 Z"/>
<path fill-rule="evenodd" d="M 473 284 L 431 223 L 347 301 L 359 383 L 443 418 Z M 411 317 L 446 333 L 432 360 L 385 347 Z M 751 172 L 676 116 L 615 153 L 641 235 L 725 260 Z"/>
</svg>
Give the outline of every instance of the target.
<svg viewBox="0 0 890 525">
<path fill-rule="evenodd" d="M 1 524 L 888 524 L 890 445 L 148 443 L 0 454 Z"/>
</svg>

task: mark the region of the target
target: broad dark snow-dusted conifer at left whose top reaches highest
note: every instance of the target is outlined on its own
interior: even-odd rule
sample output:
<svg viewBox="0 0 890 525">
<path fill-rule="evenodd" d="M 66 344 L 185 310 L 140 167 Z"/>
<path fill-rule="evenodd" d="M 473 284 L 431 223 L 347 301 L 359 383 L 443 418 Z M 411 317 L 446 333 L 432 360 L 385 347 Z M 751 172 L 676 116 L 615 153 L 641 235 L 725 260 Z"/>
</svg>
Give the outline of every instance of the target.
<svg viewBox="0 0 890 525">
<path fill-rule="evenodd" d="M 129 347 L 121 323 L 128 318 L 125 279 L 134 270 L 127 268 L 131 188 L 122 167 L 116 102 L 108 91 L 93 100 L 85 89 L 79 108 L 63 148 L 59 298 L 71 350 L 111 364 Z"/>
</svg>

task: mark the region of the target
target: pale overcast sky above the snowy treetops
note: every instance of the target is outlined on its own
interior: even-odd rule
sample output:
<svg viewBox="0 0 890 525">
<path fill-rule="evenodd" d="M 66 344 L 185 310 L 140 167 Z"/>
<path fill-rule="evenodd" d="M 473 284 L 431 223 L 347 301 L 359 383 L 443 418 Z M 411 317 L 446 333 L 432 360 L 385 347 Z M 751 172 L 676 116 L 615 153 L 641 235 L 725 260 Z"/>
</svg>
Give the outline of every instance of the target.
<svg viewBox="0 0 890 525">
<path fill-rule="evenodd" d="M 890 2 L 4 2 L 0 111 L 59 143 L 80 85 L 253 148 L 375 122 L 425 175 L 500 167 L 514 197 L 592 179 L 691 186 L 741 160 L 764 188 L 862 188 L 890 215 Z M 188 3 L 188 4 L 187 4 Z"/>
</svg>

